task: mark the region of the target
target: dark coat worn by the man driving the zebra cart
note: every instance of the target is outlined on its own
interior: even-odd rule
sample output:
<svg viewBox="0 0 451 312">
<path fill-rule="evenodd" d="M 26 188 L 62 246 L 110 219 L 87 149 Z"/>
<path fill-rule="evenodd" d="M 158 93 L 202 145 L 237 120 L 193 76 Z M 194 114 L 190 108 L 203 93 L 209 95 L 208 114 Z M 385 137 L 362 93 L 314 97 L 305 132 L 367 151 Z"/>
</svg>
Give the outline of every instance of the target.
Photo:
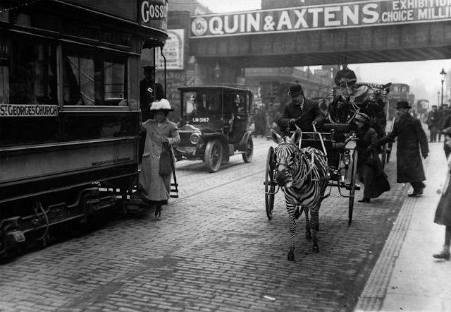
<svg viewBox="0 0 451 312">
<path fill-rule="evenodd" d="M 307 97 L 304 98 L 304 107 L 300 105 L 295 105 L 293 102 L 288 102 L 283 106 L 282 116 L 279 117 L 277 124 L 280 127 L 280 131 L 285 131 L 290 124 L 290 119 L 299 119 L 296 124 L 301 128 L 302 132 L 313 132 L 313 126 L 311 123 L 316 120 L 318 126 L 316 128 L 321 128 L 326 121 L 323 111 L 318 105 L 318 102 L 314 100 L 309 100 Z M 291 131 L 296 131 L 296 126 L 290 126 Z"/>
</svg>

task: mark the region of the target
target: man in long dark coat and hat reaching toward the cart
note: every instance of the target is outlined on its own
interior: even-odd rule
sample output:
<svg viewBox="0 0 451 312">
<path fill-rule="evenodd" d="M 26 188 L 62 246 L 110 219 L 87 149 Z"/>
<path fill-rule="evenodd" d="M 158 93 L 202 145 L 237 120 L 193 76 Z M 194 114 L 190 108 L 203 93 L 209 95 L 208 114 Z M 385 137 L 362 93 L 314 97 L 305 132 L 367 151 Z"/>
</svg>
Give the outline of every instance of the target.
<svg viewBox="0 0 451 312">
<path fill-rule="evenodd" d="M 423 183 L 426 176 L 421 156 L 425 159 L 428 157 L 428 137 L 421 121 L 409 113 L 411 108 L 407 101 L 397 102 L 393 131 L 380 138 L 378 145 L 384 145 L 397 137 L 397 183 L 410 183 L 414 191 L 409 196 L 421 196 L 426 187 Z"/>
</svg>

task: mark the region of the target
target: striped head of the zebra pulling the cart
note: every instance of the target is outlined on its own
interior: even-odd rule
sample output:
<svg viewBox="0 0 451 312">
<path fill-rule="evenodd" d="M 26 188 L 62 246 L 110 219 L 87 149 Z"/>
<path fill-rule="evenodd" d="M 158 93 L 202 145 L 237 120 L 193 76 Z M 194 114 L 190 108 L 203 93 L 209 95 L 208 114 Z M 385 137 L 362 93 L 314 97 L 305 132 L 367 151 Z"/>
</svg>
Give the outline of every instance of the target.
<svg viewBox="0 0 451 312">
<path fill-rule="evenodd" d="M 295 133 L 289 138 L 279 136 L 276 131 L 271 129 L 271 137 L 275 143 L 278 143 L 276 148 L 276 181 L 279 186 L 285 186 L 286 188 L 292 187 L 293 173 L 297 170 L 297 154 L 299 149 L 296 146 L 296 142 L 302 136 L 302 131 L 297 128 Z"/>
</svg>

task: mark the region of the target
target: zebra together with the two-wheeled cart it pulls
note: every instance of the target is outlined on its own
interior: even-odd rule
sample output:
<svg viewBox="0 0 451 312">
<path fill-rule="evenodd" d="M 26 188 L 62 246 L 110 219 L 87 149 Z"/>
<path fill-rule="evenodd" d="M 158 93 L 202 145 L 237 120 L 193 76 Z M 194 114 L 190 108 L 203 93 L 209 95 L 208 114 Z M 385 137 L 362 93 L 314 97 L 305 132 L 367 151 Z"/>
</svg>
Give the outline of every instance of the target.
<svg viewBox="0 0 451 312">
<path fill-rule="evenodd" d="M 352 222 L 355 191 L 360 189 L 357 184 L 358 152 L 347 143 L 357 138 L 350 133 L 350 124 L 324 124 L 322 131 L 302 133 L 298 128 L 291 137 L 285 138 L 279 136 L 276 131 L 271 131 L 278 146 L 275 149 L 269 148 L 266 159 L 266 215 L 271 220 L 275 194 L 283 188 L 290 216 L 291 242 L 288 260 L 294 260 L 295 217 L 302 213 L 299 206 L 306 217 L 307 239 L 311 239 L 310 231 L 313 232 L 314 252 L 319 251 L 316 243 L 319 207 L 322 200 L 330 196 L 332 187 L 338 188 L 341 196 L 349 198 L 348 225 Z M 347 134 L 346 138 L 340 136 L 343 133 Z M 303 138 L 306 135 L 308 137 Z M 326 193 L 328 187 L 329 192 Z M 345 195 L 345 191 L 349 191 L 349 195 Z"/>
</svg>

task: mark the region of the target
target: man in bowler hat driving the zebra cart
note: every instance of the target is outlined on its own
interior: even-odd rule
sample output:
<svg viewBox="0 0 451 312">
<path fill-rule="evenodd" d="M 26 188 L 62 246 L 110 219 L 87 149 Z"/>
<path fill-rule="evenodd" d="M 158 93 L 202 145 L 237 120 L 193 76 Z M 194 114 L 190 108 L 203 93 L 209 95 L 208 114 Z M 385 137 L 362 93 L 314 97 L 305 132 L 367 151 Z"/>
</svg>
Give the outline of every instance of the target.
<svg viewBox="0 0 451 312">
<path fill-rule="evenodd" d="M 302 85 L 299 83 L 291 85 L 288 95 L 292 100 L 284 105 L 282 116 L 277 120 L 280 131 L 286 131 L 287 128 L 295 131 L 298 126 L 303 132 L 313 132 L 312 125 L 315 125 L 316 129 L 323 126 L 326 120 L 323 111 L 318 102 L 304 96 Z"/>
</svg>

